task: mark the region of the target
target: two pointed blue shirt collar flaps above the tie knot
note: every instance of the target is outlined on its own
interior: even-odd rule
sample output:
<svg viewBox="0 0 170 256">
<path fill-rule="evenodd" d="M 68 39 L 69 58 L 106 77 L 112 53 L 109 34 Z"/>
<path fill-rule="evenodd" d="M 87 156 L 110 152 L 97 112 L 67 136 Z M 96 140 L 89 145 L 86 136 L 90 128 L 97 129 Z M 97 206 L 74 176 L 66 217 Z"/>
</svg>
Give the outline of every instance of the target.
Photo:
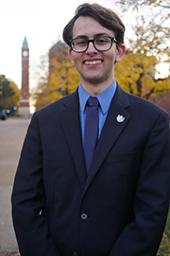
<svg viewBox="0 0 170 256">
<path fill-rule="evenodd" d="M 112 100 L 112 97 L 114 96 L 115 90 L 116 90 L 116 82 L 114 79 L 110 87 L 96 97 L 100 103 L 100 107 L 103 115 L 105 115 L 109 111 L 110 102 Z M 86 102 L 88 101 L 90 96 L 91 95 L 88 92 L 86 92 L 84 88 L 81 86 L 81 82 L 79 82 L 78 97 L 79 97 L 80 110 L 83 114 L 86 108 Z"/>
</svg>

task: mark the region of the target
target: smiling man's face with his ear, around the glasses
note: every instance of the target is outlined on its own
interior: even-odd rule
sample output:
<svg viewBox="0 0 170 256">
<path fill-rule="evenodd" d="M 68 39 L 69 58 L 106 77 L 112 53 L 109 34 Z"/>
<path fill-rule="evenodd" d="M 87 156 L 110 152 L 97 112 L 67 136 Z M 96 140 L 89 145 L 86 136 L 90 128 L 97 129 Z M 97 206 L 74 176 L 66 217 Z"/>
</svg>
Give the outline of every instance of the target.
<svg viewBox="0 0 170 256">
<path fill-rule="evenodd" d="M 76 20 L 73 27 L 73 39 L 86 37 L 93 40 L 97 35 L 114 37 L 110 29 L 102 27 L 91 17 L 80 16 Z M 80 74 L 80 81 L 84 87 L 88 83 L 100 84 L 101 82 L 109 87 L 113 82 L 114 63 L 120 62 L 124 53 L 125 46 L 121 45 L 120 49 L 117 49 L 114 42 L 108 51 L 96 50 L 93 43 L 89 44 L 85 52 L 77 53 L 69 50 L 69 56 Z"/>
</svg>

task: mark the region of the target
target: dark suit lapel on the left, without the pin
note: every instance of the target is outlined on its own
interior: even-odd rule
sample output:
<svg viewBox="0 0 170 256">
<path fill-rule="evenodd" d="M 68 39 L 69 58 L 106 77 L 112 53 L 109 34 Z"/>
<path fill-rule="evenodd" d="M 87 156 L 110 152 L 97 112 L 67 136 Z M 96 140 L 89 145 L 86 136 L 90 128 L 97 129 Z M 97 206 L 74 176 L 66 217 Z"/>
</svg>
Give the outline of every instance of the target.
<svg viewBox="0 0 170 256">
<path fill-rule="evenodd" d="M 65 108 L 60 112 L 59 118 L 76 166 L 76 173 L 83 188 L 86 180 L 86 170 L 79 122 L 77 91 L 66 99 L 64 105 Z"/>
</svg>

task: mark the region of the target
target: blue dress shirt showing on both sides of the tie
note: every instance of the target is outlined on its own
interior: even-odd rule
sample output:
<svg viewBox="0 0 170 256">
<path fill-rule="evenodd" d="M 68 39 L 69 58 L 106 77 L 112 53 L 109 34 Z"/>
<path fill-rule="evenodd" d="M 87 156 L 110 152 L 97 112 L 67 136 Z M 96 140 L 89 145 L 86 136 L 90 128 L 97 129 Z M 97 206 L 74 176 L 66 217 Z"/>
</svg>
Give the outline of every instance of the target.
<svg viewBox="0 0 170 256">
<path fill-rule="evenodd" d="M 116 90 L 116 82 L 114 79 L 110 87 L 96 97 L 100 104 L 98 109 L 99 110 L 98 137 L 100 137 L 101 135 L 103 125 L 108 116 L 108 111 L 110 109 L 110 102 L 115 94 L 115 90 Z M 88 109 L 88 106 L 86 105 L 86 103 L 90 96 L 91 95 L 84 90 L 84 88 L 81 86 L 81 83 L 79 82 L 79 85 L 78 85 L 79 115 L 80 115 L 83 145 L 84 145 L 84 128 L 85 128 L 86 114 Z"/>
</svg>

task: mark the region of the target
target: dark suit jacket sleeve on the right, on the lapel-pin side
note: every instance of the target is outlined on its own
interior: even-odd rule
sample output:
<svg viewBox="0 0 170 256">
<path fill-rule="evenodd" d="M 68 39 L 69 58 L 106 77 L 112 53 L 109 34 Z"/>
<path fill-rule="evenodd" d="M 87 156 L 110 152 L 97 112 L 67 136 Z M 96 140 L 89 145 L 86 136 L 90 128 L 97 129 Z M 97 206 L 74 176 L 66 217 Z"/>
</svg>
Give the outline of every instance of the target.
<svg viewBox="0 0 170 256">
<path fill-rule="evenodd" d="M 144 148 L 133 203 L 134 221 L 122 230 L 110 256 L 155 256 L 166 223 L 169 197 L 169 120 L 161 112 Z"/>
</svg>

